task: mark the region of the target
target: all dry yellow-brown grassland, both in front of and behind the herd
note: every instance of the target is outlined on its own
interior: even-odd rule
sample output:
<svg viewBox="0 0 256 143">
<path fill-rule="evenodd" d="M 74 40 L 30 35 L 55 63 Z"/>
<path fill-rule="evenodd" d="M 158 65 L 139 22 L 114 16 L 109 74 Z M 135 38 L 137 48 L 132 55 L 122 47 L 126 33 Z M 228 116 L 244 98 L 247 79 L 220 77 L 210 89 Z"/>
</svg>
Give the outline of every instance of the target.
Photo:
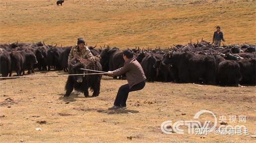
<svg viewBox="0 0 256 143">
<path fill-rule="evenodd" d="M 7 8 L 6 8 L 7 2 Z M 45 41 L 120 48 L 167 47 L 210 41 L 220 25 L 228 43 L 256 44 L 255 1 L 77 1 L 57 7 L 52 0 L 0 0 L 0 43 Z M 55 75 L 62 72 L 36 72 Z M 98 97 L 63 98 L 67 77 L 0 80 L 0 142 L 255 142 L 256 88 L 147 82 L 132 92 L 127 108 L 112 106 L 126 80 L 103 76 Z M 250 135 L 164 134 L 167 120 L 193 120 L 210 110 L 228 125 L 245 125 Z M 229 116 L 236 116 L 230 123 Z M 246 116 L 246 123 L 238 123 Z M 200 122 L 210 120 L 208 114 Z M 218 123 L 217 126 L 220 126 Z M 41 131 L 36 131 L 40 128 Z"/>
</svg>

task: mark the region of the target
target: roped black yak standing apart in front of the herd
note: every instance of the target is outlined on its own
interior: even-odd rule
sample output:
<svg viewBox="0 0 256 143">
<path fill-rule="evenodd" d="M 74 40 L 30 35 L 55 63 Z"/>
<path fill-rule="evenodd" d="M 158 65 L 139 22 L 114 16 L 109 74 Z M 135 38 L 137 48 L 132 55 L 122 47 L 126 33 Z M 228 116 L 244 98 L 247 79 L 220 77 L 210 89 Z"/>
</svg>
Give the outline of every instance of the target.
<svg viewBox="0 0 256 143">
<path fill-rule="evenodd" d="M 83 74 L 83 73 L 95 73 L 83 69 L 97 70 L 102 71 L 101 65 L 97 61 L 91 61 L 86 59 L 81 59 L 76 56 L 70 61 L 69 65 L 69 74 Z M 100 80 L 101 74 L 95 75 L 69 75 L 67 83 L 66 83 L 66 94 L 64 97 L 68 97 L 73 89 L 77 91 L 82 91 L 84 96 L 89 96 L 89 88 L 93 91 L 93 97 L 99 95 L 100 91 Z"/>
</svg>

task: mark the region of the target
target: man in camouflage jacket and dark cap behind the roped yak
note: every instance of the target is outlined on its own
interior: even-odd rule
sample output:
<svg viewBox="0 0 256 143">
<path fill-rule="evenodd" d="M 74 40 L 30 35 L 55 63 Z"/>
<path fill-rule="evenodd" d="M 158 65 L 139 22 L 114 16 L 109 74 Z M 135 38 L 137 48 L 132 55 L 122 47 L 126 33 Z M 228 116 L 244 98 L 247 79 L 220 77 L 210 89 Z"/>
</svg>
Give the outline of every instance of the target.
<svg viewBox="0 0 256 143">
<path fill-rule="evenodd" d="M 95 61 L 95 57 L 91 53 L 90 49 L 87 47 L 86 42 L 83 40 L 83 38 L 78 38 L 77 45 L 74 45 L 72 47 L 69 53 L 68 63 L 70 62 L 71 59 L 74 58 L 75 55 L 78 55 L 83 59 L 89 59 L 89 60 Z"/>
</svg>

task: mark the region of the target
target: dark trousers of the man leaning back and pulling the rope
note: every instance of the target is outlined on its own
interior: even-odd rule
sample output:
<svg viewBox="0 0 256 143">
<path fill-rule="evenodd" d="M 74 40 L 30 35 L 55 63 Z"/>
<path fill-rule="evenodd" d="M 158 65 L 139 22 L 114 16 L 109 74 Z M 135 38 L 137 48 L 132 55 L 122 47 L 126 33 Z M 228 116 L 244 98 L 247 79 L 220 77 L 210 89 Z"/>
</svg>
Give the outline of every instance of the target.
<svg viewBox="0 0 256 143">
<path fill-rule="evenodd" d="M 133 85 L 131 89 L 129 89 L 129 84 L 122 85 L 116 95 L 116 100 L 114 105 L 116 106 L 126 106 L 126 100 L 128 98 L 129 92 L 139 91 L 145 87 L 145 81 L 142 81 L 138 84 Z"/>
</svg>

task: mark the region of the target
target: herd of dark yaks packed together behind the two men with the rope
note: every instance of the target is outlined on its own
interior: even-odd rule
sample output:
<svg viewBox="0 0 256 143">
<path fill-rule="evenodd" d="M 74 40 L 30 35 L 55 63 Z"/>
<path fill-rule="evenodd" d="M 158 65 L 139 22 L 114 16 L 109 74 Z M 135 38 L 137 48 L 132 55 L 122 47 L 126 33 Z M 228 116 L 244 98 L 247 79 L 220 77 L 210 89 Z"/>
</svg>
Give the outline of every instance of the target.
<svg viewBox="0 0 256 143">
<path fill-rule="evenodd" d="M 96 67 L 100 71 L 113 71 L 123 66 L 122 50 L 109 45 L 106 47 L 100 46 L 101 48 L 95 47 L 89 46 L 92 54 L 98 57 L 98 61 L 92 66 L 94 69 Z M 46 45 L 44 42 L 0 44 L 0 72 L 3 77 L 6 77 L 11 76 L 12 71 L 16 71 L 17 76 L 22 76 L 25 74 L 25 70 L 28 70 L 27 73 L 31 74 L 34 73 L 34 69 L 39 71 L 55 69 L 68 72 L 73 68 L 74 71 L 74 68 L 81 66 L 81 63 L 68 65 L 71 48 L 72 46 Z M 255 85 L 255 49 L 256 46 L 250 44 L 215 46 L 202 39 L 201 42 L 174 45 L 164 49 L 160 47 L 146 49 L 135 47 L 131 50 L 141 64 L 147 81 L 172 81 L 237 87 L 239 84 Z M 77 59 L 79 57 L 72 61 L 83 61 Z M 118 78 L 123 79 L 125 75 Z M 100 85 L 100 79 L 101 76 L 94 76 L 91 80 L 88 80 L 90 82 L 99 81 L 97 85 L 87 83 L 88 88 L 90 87 L 95 92 L 93 96 L 97 96 L 99 93 L 97 87 Z M 74 82 L 74 79 L 69 78 L 68 80 Z M 75 80 L 80 81 L 80 79 Z M 69 86 L 66 84 L 66 96 L 69 96 L 70 91 L 73 90 L 73 88 L 72 90 L 68 89 Z"/>
</svg>

